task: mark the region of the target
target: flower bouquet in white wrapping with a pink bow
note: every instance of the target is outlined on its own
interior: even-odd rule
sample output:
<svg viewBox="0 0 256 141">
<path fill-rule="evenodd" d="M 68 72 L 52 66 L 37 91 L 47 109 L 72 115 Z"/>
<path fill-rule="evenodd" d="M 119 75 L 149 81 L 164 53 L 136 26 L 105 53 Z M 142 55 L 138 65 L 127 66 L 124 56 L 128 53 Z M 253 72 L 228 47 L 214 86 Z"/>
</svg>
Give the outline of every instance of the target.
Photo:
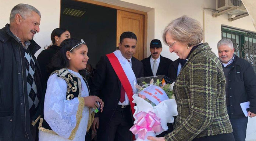
<svg viewBox="0 0 256 141">
<path fill-rule="evenodd" d="M 159 75 L 136 79 L 133 95 L 134 126 L 130 131 L 136 141 L 147 141 L 147 136 L 156 136 L 168 129 L 167 123 L 174 122 L 178 115 L 177 104 L 173 94 L 174 80 Z"/>
</svg>

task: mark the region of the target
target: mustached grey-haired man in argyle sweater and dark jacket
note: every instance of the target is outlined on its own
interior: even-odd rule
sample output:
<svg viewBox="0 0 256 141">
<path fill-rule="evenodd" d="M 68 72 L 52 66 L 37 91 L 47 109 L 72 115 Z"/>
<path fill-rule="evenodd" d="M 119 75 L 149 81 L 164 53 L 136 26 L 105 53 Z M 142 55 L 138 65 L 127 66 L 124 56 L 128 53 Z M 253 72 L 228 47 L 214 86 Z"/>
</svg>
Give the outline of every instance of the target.
<svg viewBox="0 0 256 141">
<path fill-rule="evenodd" d="M 10 25 L 0 30 L 1 141 L 35 140 L 32 118 L 42 90 L 34 56 L 40 46 L 32 39 L 39 32 L 40 18 L 35 7 L 18 4 L 11 10 Z"/>
</svg>

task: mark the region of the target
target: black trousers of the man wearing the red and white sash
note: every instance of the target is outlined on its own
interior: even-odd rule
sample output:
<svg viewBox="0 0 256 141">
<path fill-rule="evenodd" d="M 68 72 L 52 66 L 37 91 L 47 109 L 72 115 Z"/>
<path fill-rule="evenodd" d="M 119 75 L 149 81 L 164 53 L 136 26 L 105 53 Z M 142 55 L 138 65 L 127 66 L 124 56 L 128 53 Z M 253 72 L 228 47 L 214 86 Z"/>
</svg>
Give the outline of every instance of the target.
<svg viewBox="0 0 256 141">
<path fill-rule="evenodd" d="M 120 105 L 114 112 L 106 130 L 97 130 L 97 141 L 132 141 L 132 115 L 130 106 L 121 108 Z"/>
</svg>

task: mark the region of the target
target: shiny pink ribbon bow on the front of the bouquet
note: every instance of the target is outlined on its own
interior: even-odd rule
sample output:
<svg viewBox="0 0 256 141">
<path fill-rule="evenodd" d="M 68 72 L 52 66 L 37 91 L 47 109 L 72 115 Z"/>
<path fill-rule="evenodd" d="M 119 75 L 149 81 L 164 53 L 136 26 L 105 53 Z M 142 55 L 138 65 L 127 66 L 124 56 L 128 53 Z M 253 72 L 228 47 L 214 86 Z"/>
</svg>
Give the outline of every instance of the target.
<svg viewBox="0 0 256 141">
<path fill-rule="evenodd" d="M 138 137 L 142 140 L 145 139 L 145 135 L 147 131 L 154 131 L 160 132 L 162 129 L 160 118 L 156 116 L 155 113 L 149 111 L 146 112 L 139 112 L 135 115 L 138 120 L 134 126 L 130 128 L 133 134 L 138 134 Z"/>
</svg>

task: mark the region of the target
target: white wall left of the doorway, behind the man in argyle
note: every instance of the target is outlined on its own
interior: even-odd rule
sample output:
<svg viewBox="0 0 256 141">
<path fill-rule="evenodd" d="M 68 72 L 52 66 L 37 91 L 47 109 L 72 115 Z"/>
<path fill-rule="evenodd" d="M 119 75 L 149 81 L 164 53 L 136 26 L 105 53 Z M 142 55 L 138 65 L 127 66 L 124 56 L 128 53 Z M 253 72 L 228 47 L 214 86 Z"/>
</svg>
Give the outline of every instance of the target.
<svg viewBox="0 0 256 141">
<path fill-rule="evenodd" d="M 40 31 L 34 36 L 34 40 L 42 47 L 36 52 L 38 56 L 45 45 L 50 45 L 51 31 L 60 25 L 60 0 L 0 0 L 0 29 L 9 23 L 11 9 L 19 3 L 33 5 L 41 12 Z"/>
</svg>

